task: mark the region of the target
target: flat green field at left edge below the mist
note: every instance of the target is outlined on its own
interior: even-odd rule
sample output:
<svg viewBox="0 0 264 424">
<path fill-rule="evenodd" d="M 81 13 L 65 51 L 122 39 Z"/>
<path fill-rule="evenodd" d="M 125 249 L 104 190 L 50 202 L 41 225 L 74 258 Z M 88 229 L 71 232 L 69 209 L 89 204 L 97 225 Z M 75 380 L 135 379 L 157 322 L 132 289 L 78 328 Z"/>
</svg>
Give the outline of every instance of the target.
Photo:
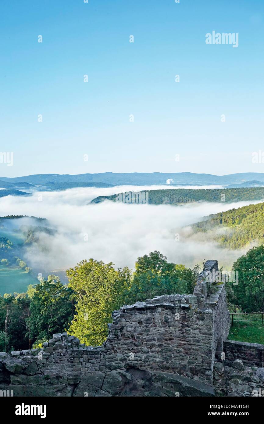
<svg viewBox="0 0 264 424">
<path fill-rule="evenodd" d="M 38 280 L 21 268 L 8 268 L 0 265 L 0 295 L 5 293 L 23 293 L 28 285 L 37 284 Z"/>
</svg>

